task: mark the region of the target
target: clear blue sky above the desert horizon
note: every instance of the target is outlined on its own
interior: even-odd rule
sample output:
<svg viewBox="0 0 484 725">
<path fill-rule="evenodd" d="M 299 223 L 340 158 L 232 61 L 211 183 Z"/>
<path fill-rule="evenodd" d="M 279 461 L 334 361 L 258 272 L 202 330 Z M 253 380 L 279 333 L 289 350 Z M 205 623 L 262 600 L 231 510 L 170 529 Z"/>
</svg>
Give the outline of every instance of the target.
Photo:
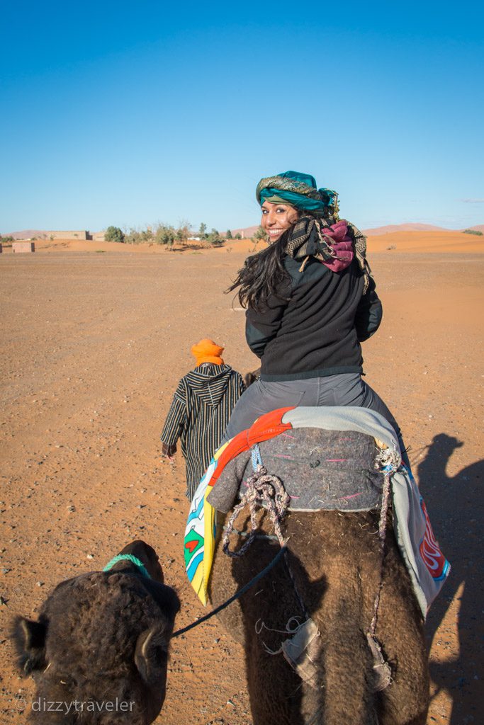
<svg viewBox="0 0 484 725">
<path fill-rule="evenodd" d="M 482 7 L 5 2 L 0 233 L 225 231 L 288 169 L 362 228 L 484 223 Z"/>
</svg>

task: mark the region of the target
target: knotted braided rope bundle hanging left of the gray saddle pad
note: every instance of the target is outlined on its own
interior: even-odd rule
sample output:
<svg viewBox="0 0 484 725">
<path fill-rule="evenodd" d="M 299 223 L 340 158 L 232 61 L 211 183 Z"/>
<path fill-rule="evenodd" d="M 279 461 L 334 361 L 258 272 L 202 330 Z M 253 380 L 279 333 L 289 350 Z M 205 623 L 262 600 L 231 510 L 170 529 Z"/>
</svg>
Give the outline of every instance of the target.
<svg viewBox="0 0 484 725">
<path fill-rule="evenodd" d="M 244 555 L 250 547 L 250 544 L 252 544 L 255 539 L 255 532 L 257 531 L 257 521 L 255 517 L 259 508 L 265 508 L 268 511 L 274 525 L 274 531 L 276 532 L 279 544 L 284 546 L 281 521 L 290 503 L 290 497 L 285 492 L 281 479 L 267 473 L 266 468 L 264 468 L 261 463 L 258 463 L 255 472 L 252 476 L 249 476 L 246 483 L 247 492 L 245 492 L 242 496 L 242 500 L 231 513 L 229 521 L 226 523 L 225 533 L 223 534 L 223 553 L 231 557 Z M 234 523 L 237 520 L 239 513 L 247 505 L 250 510 L 249 537 L 245 544 L 243 544 L 237 552 L 231 551 L 229 548 L 230 534 L 234 529 Z"/>
</svg>

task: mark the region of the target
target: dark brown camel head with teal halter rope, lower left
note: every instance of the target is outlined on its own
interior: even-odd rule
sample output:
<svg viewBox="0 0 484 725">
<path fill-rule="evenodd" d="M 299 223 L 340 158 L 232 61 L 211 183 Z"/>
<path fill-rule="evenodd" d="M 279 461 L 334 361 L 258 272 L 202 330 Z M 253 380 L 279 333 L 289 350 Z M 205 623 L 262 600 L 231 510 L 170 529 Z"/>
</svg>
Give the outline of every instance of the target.
<svg viewBox="0 0 484 725">
<path fill-rule="evenodd" d="M 115 559 L 110 571 L 58 584 L 38 621 L 15 619 L 20 670 L 36 679 L 36 725 L 149 725 L 160 713 L 179 598 L 148 544 Z"/>
</svg>

